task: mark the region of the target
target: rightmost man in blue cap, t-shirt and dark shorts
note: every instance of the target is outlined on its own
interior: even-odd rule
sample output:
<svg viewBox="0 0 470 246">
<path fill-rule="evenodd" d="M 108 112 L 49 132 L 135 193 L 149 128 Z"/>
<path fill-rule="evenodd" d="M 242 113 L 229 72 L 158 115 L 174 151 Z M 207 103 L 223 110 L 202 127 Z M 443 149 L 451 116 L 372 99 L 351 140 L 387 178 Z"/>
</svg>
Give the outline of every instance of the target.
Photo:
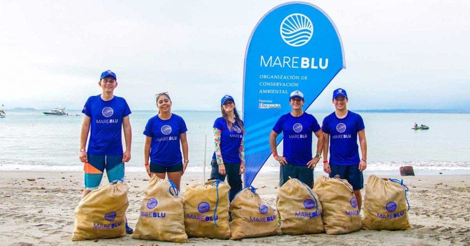
<svg viewBox="0 0 470 246">
<path fill-rule="evenodd" d="M 339 174 L 345 178 L 354 190 L 360 211 L 362 196 L 360 189 L 364 186 L 362 171 L 367 167 L 367 143 L 362 117 L 347 110 L 347 94 L 342 88 L 333 91 L 334 112 L 323 119 L 321 129 L 324 134 L 323 170 L 329 177 Z M 359 137 L 361 157 L 357 146 Z M 329 145 L 329 162 L 328 156 Z"/>
</svg>

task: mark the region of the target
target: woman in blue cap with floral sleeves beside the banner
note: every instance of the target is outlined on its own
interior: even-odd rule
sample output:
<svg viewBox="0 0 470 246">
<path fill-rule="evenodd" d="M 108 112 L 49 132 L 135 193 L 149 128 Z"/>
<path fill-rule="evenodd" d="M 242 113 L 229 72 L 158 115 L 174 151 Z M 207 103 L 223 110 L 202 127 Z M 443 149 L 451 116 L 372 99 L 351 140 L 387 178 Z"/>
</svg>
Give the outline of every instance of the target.
<svg viewBox="0 0 470 246">
<path fill-rule="evenodd" d="M 233 97 L 224 95 L 220 100 L 222 116 L 213 125 L 214 154 L 210 179 L 225 180 L 230 185 L 229 200 L 241 190 L 241 174 L 245 171 L 243 121 L 236 111 Z"/>
</svg>

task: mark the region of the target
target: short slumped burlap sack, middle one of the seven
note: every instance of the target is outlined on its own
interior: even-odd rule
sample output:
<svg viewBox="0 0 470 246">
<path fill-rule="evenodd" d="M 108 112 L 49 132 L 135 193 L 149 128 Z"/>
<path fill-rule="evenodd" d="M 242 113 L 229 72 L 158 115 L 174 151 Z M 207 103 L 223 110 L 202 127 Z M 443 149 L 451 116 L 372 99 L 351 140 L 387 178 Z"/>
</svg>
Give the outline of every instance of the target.
<svg viewBox="0 0 470 246">
<path fill-rule="evenodd" d="M 282 234 L 271 206 L 264 204 L 253 186 L 240 190 L 230 203 L 232 240 Z"/>
</svg>

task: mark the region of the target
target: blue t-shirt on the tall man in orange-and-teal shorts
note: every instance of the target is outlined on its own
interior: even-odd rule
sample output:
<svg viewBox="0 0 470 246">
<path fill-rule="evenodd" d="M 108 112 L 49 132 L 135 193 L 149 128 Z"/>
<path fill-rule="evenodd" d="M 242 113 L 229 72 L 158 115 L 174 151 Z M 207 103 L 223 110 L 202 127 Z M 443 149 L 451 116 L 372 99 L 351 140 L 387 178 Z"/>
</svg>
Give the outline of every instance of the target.
<svg viewBox="0 0 470 246">
<path fill-rule="evenodd" d="M 88 97 L 82 113 L 91 118 L 88 153 L 99 155 L 122 154 L 122 118 L 130 114 L 124 98 L 114 96 L 105 101 L 101 94 Z"/>
</svg>

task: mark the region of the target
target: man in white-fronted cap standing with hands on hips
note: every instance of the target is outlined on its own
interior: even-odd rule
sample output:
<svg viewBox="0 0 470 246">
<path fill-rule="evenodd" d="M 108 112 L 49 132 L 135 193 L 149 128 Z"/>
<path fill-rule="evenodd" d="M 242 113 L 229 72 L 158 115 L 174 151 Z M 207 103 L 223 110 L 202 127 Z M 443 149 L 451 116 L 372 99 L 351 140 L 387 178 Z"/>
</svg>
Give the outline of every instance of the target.
<svg viewBox="0 0 470 246">
<path fill-rule="evenodd" d="M 323 133 L 313 115 L 303 112 L 303 93 L 292 91 L 289 97 L 291 111 L 277 120 L 269 135 L 272 156 L 279 161 L 279 185 L 289 177 L 297 178 L 310 188 L 313 187 L 313 168 L 320 160 L 323 149 Z M 277 154 L 276 137 L 284 134 L 282 155 Z M 316 154 L 312 157 L 312 133 L 317 137 Z"/>
</svg>

